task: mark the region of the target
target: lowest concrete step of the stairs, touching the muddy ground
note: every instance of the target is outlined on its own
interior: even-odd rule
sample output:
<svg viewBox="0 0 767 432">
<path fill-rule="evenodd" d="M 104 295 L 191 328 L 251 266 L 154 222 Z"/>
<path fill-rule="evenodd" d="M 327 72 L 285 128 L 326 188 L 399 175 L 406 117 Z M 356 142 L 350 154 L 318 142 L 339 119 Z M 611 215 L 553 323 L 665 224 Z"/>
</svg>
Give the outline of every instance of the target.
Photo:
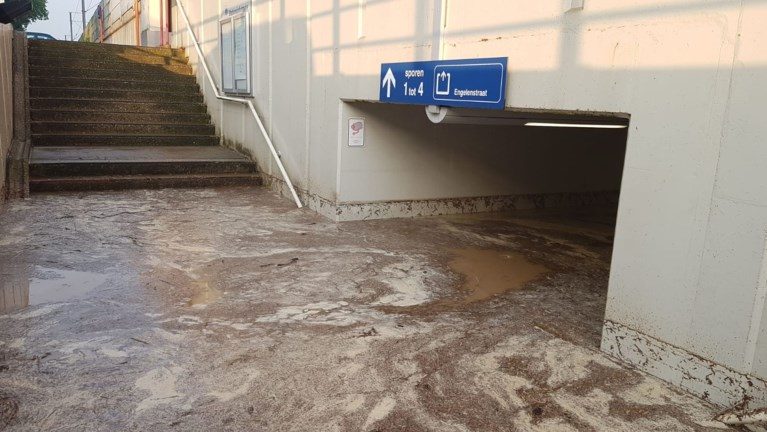
<svg viewBox="0 0 767 432">
<path fill-rule="evenodd" d="M 164 189 L 216 186 L 260 186 L 260 174 L 154 174 L 90 177 L 34 177 L 29 180 L 32 192 L 83 190 Z"/>
</svg>

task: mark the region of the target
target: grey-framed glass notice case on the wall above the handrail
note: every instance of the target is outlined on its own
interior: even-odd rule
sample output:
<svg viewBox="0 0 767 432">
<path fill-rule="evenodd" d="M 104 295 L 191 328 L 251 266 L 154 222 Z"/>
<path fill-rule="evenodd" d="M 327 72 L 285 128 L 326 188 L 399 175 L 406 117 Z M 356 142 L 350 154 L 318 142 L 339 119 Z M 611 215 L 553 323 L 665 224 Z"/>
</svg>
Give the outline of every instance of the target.
<svg viewBox="0 0 767 432">
<path fill-rule="evenodd" d="M 243 10 L 244 9 L 244 10 Z M 221 84 L 224 93 L 250 94 L 250 22 L 248 10 L 224 11 L 219 21 Z"/>
</svg>

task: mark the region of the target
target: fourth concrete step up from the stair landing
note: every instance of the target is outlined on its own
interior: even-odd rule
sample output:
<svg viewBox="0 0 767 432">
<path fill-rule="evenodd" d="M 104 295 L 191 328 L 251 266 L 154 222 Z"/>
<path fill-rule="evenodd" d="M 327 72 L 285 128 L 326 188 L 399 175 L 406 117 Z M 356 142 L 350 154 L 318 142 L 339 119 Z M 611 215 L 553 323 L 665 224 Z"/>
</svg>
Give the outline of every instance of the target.
<svg viewBox="0 0 767 432">
<path fill-rule="evenodd" d="M 207 113 L 202 102 L 135 101 L 133 99 L 80 99 L 80 98 L 31 98 L 31 109 L 60 111 L 99 111 L 108 113 Z"/>
</svg>

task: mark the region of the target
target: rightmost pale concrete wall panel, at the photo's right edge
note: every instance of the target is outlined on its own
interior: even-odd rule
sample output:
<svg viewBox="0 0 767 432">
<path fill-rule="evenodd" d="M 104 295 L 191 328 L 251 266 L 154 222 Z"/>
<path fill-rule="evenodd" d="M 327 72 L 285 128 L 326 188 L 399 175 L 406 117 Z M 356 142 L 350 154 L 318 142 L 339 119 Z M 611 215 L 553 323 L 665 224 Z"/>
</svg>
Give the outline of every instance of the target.
<svg viewBox="0 0 767 432">
<path fill-rule="evenodd" d="M 729 92 L 722 121 L 701 274 L 690 338 L 721 356 L 732 338 L 732 363 L 767 378 L 767 4 L 746 2 L 727 65 Z M 756 290 L 754 288 L 757 288 Z M 709 328 L 706 331 L 702 331 Z M 744 337 L 733 329 L 749 328 Z M 728 329 L 730 331 L 728 331 Z"/>
</svg>

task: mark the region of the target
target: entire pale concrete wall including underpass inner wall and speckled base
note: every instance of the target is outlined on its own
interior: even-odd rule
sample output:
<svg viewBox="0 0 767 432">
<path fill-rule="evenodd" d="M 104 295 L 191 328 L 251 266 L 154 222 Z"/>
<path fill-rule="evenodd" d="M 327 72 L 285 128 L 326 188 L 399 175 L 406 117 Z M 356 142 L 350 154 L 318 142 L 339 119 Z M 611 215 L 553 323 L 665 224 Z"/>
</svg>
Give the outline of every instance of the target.
<svg viewBox="0 0 767 432">
<path fill-rule="evenodd" d="M 767 404 L 766 1 L 176 1 L 169 41 L 275 188 L 249 109 L 216 98 L 188 30 L 332 219 L 619 200 L 602 349 L 717 404 Z M 444 125 L 378 103 L 382 63 L 479 57 L 508 57 L 507 117 L 629 127 Z"/>
</svg>

